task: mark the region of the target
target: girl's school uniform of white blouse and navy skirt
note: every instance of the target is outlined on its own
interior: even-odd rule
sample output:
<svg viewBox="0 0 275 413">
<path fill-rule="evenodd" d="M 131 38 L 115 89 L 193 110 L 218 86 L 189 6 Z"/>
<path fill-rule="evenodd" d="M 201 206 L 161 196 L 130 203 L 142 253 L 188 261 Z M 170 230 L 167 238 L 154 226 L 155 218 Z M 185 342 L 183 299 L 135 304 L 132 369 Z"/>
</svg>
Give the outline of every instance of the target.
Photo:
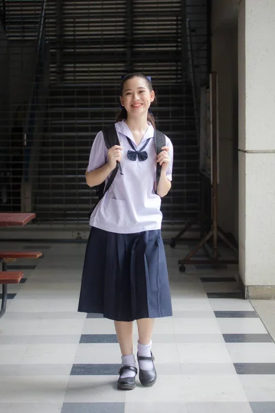
<svg viewBox="0 0 275 413">
<path fill-rule="evenodd" d="M 124 120 L 115 129 L 124 149 L 122 173 L 118 171 L 90 217 L 78 311 L 100 313 L 116 321 L 167 317 L 172 307 L 161 235 L 161 198 L 154 190 L 154 129 L 148 125 L 139 145 Z M 166 176 L 172 180 L 173 145 L 167 136 L 166 146 L 170 149 Z M 87 171 L 105 165 L 107 152 L 100 131 Z"/>
</svg>

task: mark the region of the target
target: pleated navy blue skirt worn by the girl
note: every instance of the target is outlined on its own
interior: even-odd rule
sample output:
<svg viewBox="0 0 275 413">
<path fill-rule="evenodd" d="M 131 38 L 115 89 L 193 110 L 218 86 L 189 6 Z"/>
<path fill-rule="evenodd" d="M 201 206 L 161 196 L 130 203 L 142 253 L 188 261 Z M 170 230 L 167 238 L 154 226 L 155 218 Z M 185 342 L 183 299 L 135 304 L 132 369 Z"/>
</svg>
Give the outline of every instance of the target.
<svg viewBox="0 0 275 413">
<path fill-rule="evenodd" d="M 117 234 L 92 227 L 78 311 L 116 321 L 172 315 L 161 231 Z"/>
</svg>

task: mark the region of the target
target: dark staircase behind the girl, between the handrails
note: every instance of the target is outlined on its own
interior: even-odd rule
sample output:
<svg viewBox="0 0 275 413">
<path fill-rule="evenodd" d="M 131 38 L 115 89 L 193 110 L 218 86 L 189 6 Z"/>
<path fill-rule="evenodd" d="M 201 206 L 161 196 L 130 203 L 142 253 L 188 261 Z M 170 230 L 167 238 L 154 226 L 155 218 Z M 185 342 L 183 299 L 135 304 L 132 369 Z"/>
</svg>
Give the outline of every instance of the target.
<svg viewBox="0 0 275 413">
<path fill-rule="evenodd" d="M 28 21 L 33 1 L 12 3 L 20 4 Z M 194 8 L 188 3 L 188 17 L 196 19 L 194 10 L 198 3 L 204 7 L 205 0 L 197 0 Z M 164 222 L 182 224 L 196 215 L 199 147 L 181 49 L 185 41 L 181 21 L 186 18 L 181 4 L 181 0 L 49 0 L 50 96 L 33 193 L 39 222 L 87 223 L 96 202 L 95 191 L 85 183 L 89 152 L 98 131 L 113 123 L 120 78 L 130 70 L 152 77 L 157 128 L 174 145 L 173 189 L 162 202 Z M 201 8 L 200 13 L 201 19 Z M 204 41 L 201 21 L 199 25 L 198 39 Z"/>
</svg>

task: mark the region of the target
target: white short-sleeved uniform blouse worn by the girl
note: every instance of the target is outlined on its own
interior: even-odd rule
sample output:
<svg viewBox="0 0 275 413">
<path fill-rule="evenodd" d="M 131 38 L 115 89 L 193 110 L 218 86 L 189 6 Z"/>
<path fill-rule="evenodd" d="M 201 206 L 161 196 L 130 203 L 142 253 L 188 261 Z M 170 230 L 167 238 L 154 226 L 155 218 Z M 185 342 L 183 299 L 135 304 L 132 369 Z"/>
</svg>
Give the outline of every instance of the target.
<svg viewBox="0 0 275 413">
<path fill-rule="evenodd" d="M 118 171 L 109 191 L 98 203 L 90 218 L 90 225 L 113 233 L 138 233 L 153 229 L 160 229 L 162 212 L 160 211 L 161 198 L 154 191 L 156 177 L 156 153 L 153 139 L 154 129 L 151 123 L 148 126 L 140 144 L 137 146 L 129 127 L 124 120 L 115 123 L 122 151 L 121 167 L 123 175 Z M 139 150 L 148 138 L 148 145 L 144 149 L 148 159 L 133 161 L 127 158 L 127 151 L 133 150 L 127 140 Z M 172 180 L 173 145 L 166 136 L 166 146 L 169 147 L 170 165 L 166 169 L 168 180 Z M 98 133 L 91 147 L 87 171 L 94 171 L 108 162 L 107 147 L 102 131 Z M 107 181 L 106 181 L 107 182 Z"/>
</svg>

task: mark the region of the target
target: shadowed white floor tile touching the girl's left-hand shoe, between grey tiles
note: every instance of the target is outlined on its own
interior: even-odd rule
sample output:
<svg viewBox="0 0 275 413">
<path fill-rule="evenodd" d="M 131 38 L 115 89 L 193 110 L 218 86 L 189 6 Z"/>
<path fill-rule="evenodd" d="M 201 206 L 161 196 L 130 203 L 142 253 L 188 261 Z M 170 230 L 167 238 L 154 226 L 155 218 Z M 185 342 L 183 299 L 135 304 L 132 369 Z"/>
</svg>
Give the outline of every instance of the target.
<svg viewBox="0 0 275 413">
<path fill-rule="evenodd" d="M 117 390 L 118 376 L 71 376 L 65 403 L 105 403 L 125 401 L 125 392 Z"/>
</svg>

